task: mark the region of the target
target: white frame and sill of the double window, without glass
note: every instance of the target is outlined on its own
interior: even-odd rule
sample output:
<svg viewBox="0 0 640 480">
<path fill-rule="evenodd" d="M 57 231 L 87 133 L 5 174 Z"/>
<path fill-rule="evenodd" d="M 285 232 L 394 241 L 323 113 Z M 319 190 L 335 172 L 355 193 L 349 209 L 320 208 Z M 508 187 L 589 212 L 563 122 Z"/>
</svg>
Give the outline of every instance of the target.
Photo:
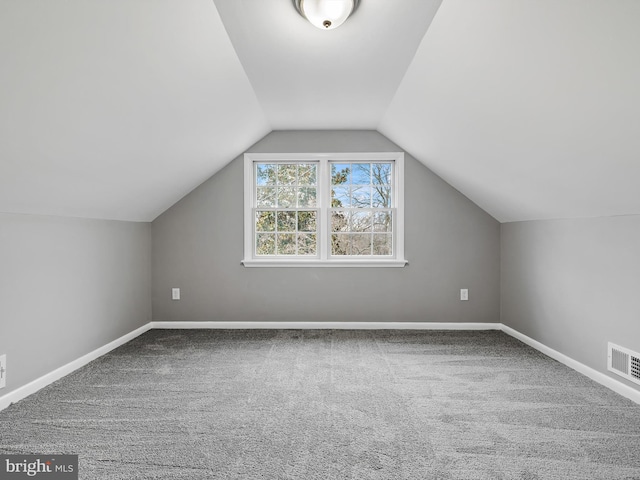
<svg viewBox="0 0 640 480">
<path fill-rule="evenodd" d="M 394 210 L 392 256 L 332 256 L 330 254 L 330 163 L 393 162 L 392 190 Z M 253 214 L 256 162 L 317 163 L 318 249 L 313 257 L 259 257 L 255 255 L 255 218 Z M 404 153 L 245 153 L 244 154 L 244 259 L 245 267 L 404 267 Z"/>
</svg>

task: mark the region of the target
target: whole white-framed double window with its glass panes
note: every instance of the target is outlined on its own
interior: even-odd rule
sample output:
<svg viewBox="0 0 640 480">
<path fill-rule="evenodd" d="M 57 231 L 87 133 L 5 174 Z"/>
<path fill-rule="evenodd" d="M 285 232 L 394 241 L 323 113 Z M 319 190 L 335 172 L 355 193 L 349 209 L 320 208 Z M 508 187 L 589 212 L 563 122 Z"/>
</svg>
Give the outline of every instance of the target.
<svg viewBox="0 0 640 480">
<path fill-rule="evenodd" d="M 404 260 L 402 153 L 245 154 L 245 256 L 255 266 Z"/>
</svg>

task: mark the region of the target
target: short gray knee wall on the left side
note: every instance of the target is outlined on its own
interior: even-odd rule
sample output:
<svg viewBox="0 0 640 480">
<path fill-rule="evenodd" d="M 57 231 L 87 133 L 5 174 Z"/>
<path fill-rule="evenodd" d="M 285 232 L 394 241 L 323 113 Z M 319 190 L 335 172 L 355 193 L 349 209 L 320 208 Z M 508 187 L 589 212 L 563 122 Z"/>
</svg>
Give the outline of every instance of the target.
<svg viewBox="0 0 640 480">
<path fill-rule="evenodd" d="M 150 298 L 150 224 L 0 214 L 0 396 L 148 323 Z"/>
</svg>

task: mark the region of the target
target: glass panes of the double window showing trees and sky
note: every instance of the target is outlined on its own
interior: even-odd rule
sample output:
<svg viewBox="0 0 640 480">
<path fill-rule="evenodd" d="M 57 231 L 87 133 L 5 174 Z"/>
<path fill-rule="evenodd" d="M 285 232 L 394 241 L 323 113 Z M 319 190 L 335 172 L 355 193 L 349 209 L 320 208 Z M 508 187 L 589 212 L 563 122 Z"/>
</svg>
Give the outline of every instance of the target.
<svg viewBox="0 0 640 480">
<path fill-rule="evenodd" d="M 318 205 L 318 164 L 255 164 L 257 256 L 317 256 L 328 210 L 332 256 L 393 254 L 391 162 L 331 162 L 330 204 Z"/>
</svg>

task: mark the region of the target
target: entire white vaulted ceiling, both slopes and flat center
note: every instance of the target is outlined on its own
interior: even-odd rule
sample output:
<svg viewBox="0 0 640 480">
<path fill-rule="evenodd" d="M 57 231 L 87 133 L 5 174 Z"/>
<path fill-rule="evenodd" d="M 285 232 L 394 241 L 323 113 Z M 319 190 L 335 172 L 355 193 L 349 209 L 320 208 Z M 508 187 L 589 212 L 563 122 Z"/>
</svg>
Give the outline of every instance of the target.
<svg viewBox="0 0 640 480">
<path fill-rule="evenodd" d="M 0 212 L 150 221 L 271 130 L 377 129 L 500 221 L 640 214 L 640 2 L 0 0 Z"/>
</svg>

